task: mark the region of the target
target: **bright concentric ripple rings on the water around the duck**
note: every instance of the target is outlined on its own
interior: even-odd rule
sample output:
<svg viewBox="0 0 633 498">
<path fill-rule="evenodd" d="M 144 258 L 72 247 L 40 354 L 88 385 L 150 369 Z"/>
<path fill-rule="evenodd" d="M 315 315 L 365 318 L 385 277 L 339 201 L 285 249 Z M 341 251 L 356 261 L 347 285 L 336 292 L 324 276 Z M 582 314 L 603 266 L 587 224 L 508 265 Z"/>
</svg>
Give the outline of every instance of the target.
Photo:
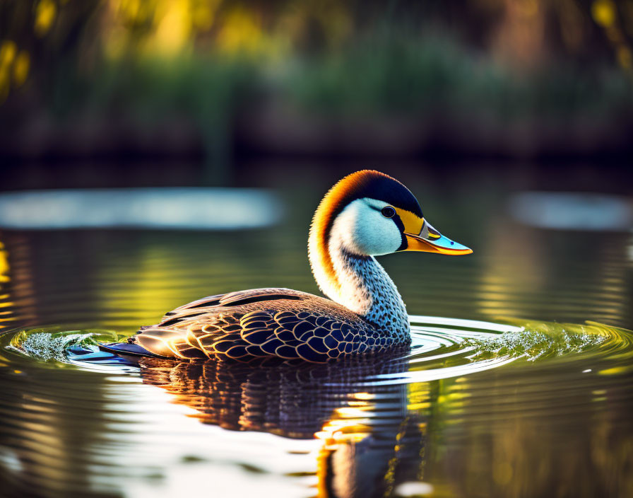
<svg viewBox="0 0 633 498">
<path fill-rule="evenodd" d="M 391 359 L 405 361 L 396 373 L 357 378 L 362 383 L 411 383 L 433 381 L 494 369 L 516 359 L 537 361 L 554 357 L 573 359 L 574 354 L 592 357 L 633 355 L 631 332 L 599 323 L 584 325 L 506 320 L 491 323 L 412 315 L 410 351 Z M 121 366 L 98 358 L 99 342 L 123 340 L 129 333 L 116 330 L 77 329 L 57 326 L 7 332 L 2 344 L 8 351 L 49 365 L 74 364 L 94 370 Z M 81 352 L 81 354 L 78 354 Z"/>
</svg>

